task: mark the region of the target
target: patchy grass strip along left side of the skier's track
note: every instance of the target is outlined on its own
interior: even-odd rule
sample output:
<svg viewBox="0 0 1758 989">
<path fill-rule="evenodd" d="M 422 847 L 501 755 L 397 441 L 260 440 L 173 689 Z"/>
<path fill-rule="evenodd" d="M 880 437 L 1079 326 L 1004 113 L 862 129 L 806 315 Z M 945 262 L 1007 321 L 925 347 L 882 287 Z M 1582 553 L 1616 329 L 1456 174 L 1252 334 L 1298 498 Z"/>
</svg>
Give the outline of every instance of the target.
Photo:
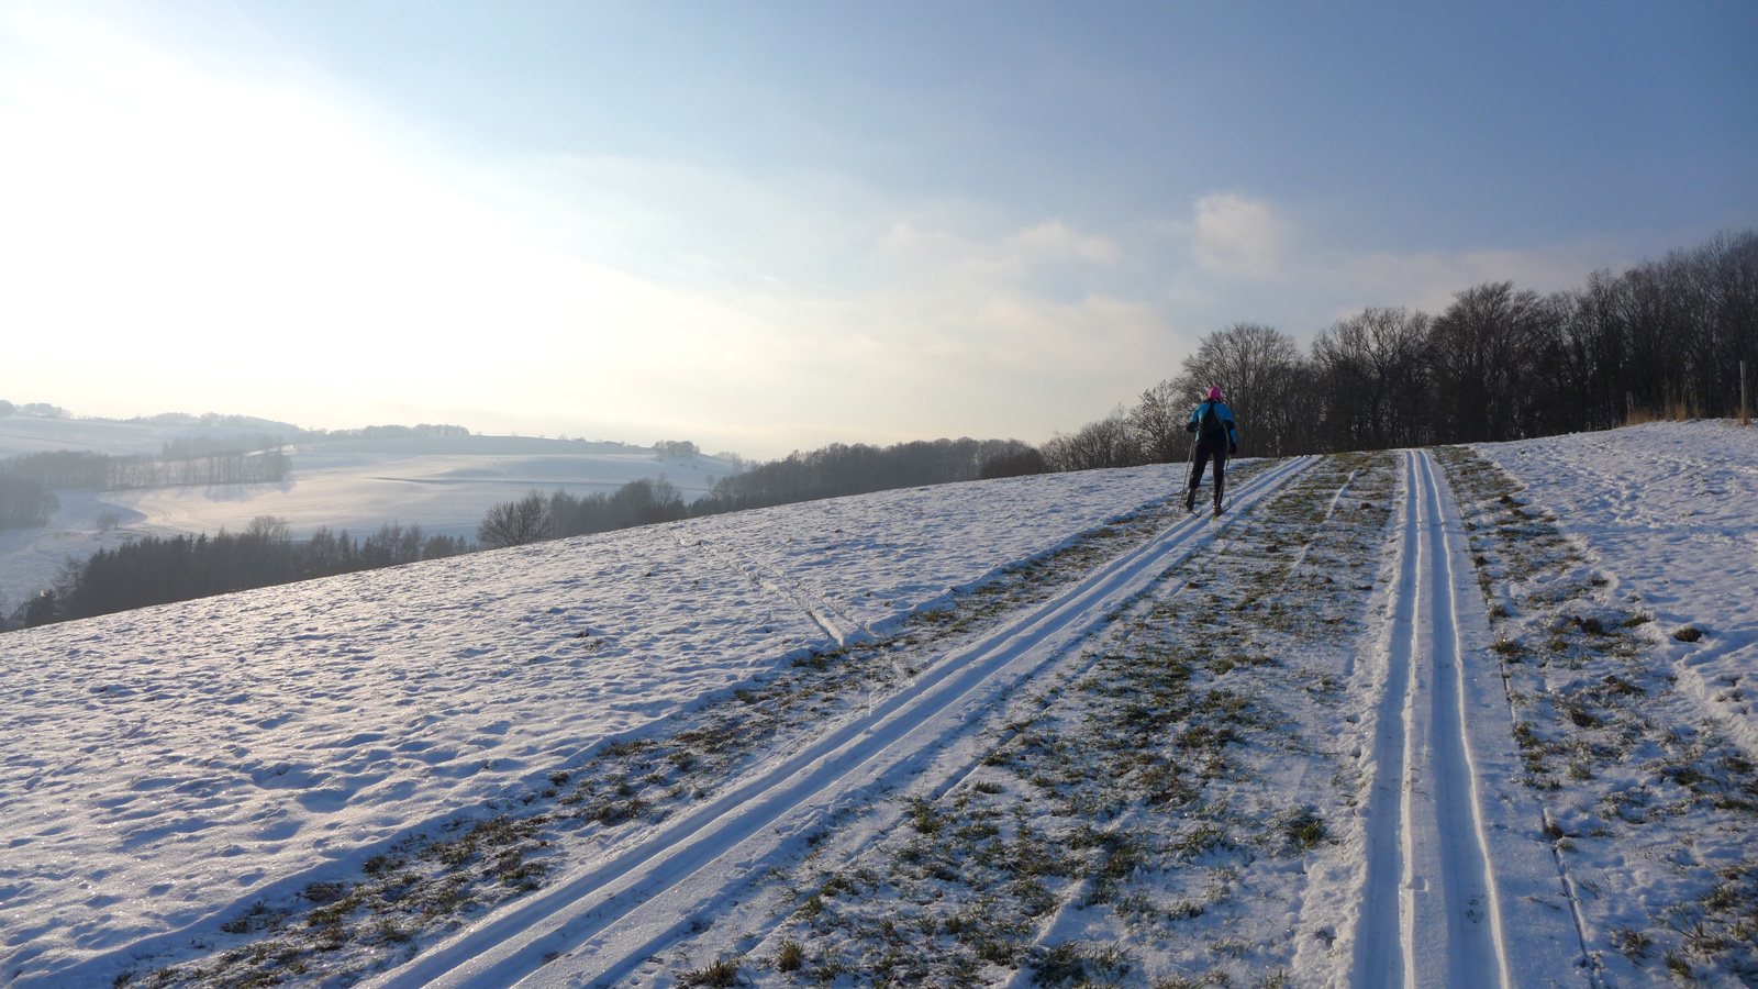
<svg viewBox="0 0 1758 989">
<path fill-rule="evenodd" d="M 1243 465 L 1239 480 L 1257 470 Z M 441 834 L 404 838 L 353 878 L 313 883 L 283 903 L 255 903 L 176 959 L 127 971 L 118 985 L 348 985 L 392 968 L 489 910 L 543 889 L 570 861 L 638 839 L 643 829 L 714 795 L 763 753 L 798 748 L 928 669 L 948 642 L 1044 600 L 1174 514 L 1183 512 L 1173 502 L 1153 505 L 953 593 L 884 635 L 802 653 L 784 674 L 737 688 L 657 732 L 605 744 L 585 766 L 552 771 L 547 785 L 522 797 L 461 815 Z M 788 964 L 786 945 L 779 956 L 777 964 Z M 795 964 L 802 964 L 798 956 Z M 735 968 L 714 959 L 682 973 L 679 984 L 731 985 Z"/>
</svg>

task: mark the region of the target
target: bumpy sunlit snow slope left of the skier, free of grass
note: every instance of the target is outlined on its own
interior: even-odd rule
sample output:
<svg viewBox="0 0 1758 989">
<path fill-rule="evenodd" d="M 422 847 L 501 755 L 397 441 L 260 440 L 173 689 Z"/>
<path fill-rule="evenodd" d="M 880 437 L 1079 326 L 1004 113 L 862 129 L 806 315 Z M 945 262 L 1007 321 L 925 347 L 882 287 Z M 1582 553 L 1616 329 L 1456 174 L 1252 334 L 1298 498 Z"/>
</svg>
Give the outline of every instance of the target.
<svg viewBox="0 0 1758 989">
<path fill-rule="evenodd" d="M 1178 472 L 814 502 L 0 637 L 0 982 L 357 868 Z"/>
</svg>

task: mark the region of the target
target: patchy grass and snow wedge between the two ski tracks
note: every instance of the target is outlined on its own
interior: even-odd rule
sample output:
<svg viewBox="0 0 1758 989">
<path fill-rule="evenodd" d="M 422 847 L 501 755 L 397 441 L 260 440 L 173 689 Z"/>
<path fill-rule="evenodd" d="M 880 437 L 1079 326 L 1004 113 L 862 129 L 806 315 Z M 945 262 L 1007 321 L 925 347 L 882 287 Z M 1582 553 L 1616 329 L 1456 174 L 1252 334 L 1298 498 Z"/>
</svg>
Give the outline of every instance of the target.
<svg viewBox="0 0 1758 989">
<path fill-rule="evenodd" d="M 1348 815 L 1324 743 L 1392 463 L 1310 470 L 997 713 L 969 771 L 847 822 L 726 919 L 765 931 L 723 934 L 740 977 L 1282 985 L 1304 861 L 1338 853 Z M 1294 771 L 1313 760 L 1334 766 Z M 633 984 L 684 984 L 726 947 Z"/>
</svg>

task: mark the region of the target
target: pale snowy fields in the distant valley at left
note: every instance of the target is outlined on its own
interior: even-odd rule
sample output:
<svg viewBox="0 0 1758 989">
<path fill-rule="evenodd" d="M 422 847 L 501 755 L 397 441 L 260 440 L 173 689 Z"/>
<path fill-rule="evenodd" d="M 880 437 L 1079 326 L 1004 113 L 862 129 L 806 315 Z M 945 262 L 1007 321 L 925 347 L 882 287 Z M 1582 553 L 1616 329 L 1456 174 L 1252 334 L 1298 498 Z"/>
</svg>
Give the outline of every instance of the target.
<svg viewBox="0 0 1758 989">
<path fill-rule="evenodd" d="M 0 417 L 0 458 L 49 451 L 158 456 L 167 440 L 227 433 L 255 435 L 9 415 Z M 11 612 L 28 595 L 53 584 L 65 560 L 84 560 L 132 537 L 239 531 L 257 516 L 280 516 L 294 535 L 329 526 L 360 537 L 385 523 L 401 523 L 420 524 L 427 535 L 473 540 L 476 524 L 494 503 L 533 487 L 587 494 L 665 477 L 689 502 L 735 472 L 733 465 L 708 456 L 661 461 L 642 447 L 520 436 L 341 440 L 290 447 L 288 454 L 292 473 L 283 484 L 56 493 L 62 510 L 46 528 L 0 531 L 0 605 L 11 602 L 5 607 Z M 98 517 L 105 512 L 121 519 L 114 530 L 102 530 Z"/>
</svg>

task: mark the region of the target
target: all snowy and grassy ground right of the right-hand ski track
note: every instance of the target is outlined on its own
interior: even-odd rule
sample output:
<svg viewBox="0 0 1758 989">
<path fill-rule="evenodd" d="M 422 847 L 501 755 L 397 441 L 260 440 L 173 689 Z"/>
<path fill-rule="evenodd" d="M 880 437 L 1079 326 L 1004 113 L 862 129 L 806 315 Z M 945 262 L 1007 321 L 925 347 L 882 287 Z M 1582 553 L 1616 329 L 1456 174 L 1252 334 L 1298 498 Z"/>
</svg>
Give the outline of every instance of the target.
<svg viewBox="0 0 1758 989">
<path fill-rule="evenodd" d="M 1596 984 L 1758 985 L 1758 429 L 1480 452 L 1514 484 L 1473 551 Z"/>
</svg>

